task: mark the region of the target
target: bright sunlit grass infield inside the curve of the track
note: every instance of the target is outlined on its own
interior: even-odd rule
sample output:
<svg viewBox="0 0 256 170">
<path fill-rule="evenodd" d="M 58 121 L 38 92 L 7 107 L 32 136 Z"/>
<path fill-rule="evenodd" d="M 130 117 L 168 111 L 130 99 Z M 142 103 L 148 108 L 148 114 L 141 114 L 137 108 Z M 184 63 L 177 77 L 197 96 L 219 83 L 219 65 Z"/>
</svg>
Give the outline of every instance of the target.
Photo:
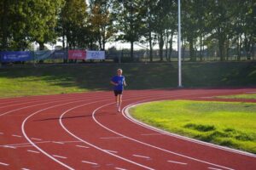
<svg viewBox="0 0 256 170">
<path fill-rule="evenodd" d="M 131 116 L 155 127 L 256 153 L 256 104 L 161 101 L 131 108 Z"/>
</svg>

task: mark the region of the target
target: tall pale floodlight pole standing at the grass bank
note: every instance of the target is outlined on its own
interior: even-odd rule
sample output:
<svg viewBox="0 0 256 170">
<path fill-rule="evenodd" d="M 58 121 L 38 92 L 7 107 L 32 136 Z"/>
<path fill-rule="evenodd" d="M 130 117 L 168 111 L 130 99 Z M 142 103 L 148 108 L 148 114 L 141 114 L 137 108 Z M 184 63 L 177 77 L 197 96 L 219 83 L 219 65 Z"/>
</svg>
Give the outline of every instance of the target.
<svg viewBox="0 0 256 170">
<path fill-rule="evenodd" d="M 178 0 L 177 4 L 177 53 L 178 53 L 178 59 L 177 59 L 177 66 L 178 66 L 178 88 L 182 88 L 182 64 L 181 64 L 181 28 L 180 28 L 180 0 Z"/>
</svg>

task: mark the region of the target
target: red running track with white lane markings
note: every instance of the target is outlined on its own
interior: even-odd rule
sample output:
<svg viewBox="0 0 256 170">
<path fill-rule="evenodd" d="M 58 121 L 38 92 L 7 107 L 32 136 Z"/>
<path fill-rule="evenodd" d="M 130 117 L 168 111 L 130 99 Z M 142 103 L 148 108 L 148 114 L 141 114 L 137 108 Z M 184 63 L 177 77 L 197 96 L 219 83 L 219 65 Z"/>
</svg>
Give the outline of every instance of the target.
<svg viewBox="0 0 256 170">
<path fill-rule="evenodd" d="M 0 99 L 0 169 L 253 170 L 253 154 L 166 133 L 128 113 L 148 101 L 247 93 L 256 88 L 125 91 L 122 113 L 112 92 Z"/>
</svg>

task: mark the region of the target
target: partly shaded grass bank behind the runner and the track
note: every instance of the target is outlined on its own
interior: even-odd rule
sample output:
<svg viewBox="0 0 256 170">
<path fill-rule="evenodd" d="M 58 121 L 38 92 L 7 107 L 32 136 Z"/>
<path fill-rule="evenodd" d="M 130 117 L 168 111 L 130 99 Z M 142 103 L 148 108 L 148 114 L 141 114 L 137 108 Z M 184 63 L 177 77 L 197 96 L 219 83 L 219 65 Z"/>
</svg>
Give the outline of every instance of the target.
<svg viewBox="0 0 256 170">
<path fill-rule="evenodd" d="M 177 62 L 132 64 L 14 65 L 0 68 L 0 98 L 109 90 L 122 68 L 126 89 L 177 88 Z M 255 62 L 183 63 L 183 86 L 256 86 Z"/>
</svg>

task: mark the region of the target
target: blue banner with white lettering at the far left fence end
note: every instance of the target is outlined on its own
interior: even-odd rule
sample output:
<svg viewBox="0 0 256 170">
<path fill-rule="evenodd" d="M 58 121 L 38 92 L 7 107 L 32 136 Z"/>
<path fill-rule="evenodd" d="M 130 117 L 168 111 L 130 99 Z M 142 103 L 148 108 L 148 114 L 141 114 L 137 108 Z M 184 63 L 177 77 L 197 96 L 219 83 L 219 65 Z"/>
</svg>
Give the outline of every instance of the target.
<svg viewBox="0 0 256 170">
<path fill-rule="evenodd" d="M 30 51 L 2 51 L 0 52 L 1 62 L 9 63 L 15 61 L 32 60 L 33 56 Z"/>
</svg>

